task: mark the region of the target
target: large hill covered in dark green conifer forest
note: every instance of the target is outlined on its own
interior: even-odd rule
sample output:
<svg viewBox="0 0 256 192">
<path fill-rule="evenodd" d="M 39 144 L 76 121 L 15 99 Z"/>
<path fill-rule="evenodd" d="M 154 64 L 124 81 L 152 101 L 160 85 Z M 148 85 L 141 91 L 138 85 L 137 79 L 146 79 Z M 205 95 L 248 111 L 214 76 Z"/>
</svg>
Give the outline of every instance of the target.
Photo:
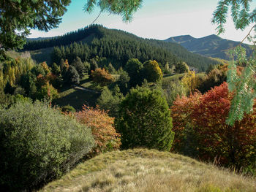
<svg viewBox="0 0 256 192">
<path fill-rule="evenodd" d="M 98 56 L 107 58 L 116 68 L 124 66 L 129 58 L 138 58 L 141 62 L 156 60 L 162 67 L 167 63 L 175 66 L 184 61 L 199 71 L 205 71 L 211 64 L 219 64 L 211 58 L 190 53 L 177 43 L 143 39 L 99 25 L 81 28 L 59 37 L 28 41 L 24 50 L 30 50 L 32 58 L 39 62 L 45 60 L 59 63 L 61 58 L 72 61 L 76 56 L 82 61 L 89 61 Z"/>
</svg>

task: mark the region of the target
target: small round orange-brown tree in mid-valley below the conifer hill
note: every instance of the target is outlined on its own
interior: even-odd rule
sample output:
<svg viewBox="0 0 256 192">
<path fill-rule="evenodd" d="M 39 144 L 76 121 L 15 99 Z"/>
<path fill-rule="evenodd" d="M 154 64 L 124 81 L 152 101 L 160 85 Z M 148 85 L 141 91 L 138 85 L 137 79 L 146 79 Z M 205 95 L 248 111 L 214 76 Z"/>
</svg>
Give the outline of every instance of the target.
<svg viewBox="0 0 256 192">
<path fill-rule="evenodd" d="M 109 74 L 105 68 L 97 68 L 95 69 L 95 71 L 91 71 L 91 76 L 93 78 L 93 81 L 101 86 L 105 86 L 110 84 L 111 82 L 114 82 L 113 76 Z"/>
</svg>

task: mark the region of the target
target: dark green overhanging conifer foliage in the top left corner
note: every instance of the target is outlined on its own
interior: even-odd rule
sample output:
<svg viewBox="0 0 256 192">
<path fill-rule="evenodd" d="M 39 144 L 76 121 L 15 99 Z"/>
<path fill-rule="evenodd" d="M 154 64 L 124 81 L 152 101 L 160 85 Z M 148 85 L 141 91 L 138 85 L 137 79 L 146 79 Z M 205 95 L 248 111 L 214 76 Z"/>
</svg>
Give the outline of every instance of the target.
<svg viewBox="0 0 256 192">
<path fill-rule="evenodd" d="M 22 48 L 31 28 L 49 31 L 61 23 L 71 0 L 0 1 L 0 44 L 5 49 Z"/>
</svg>

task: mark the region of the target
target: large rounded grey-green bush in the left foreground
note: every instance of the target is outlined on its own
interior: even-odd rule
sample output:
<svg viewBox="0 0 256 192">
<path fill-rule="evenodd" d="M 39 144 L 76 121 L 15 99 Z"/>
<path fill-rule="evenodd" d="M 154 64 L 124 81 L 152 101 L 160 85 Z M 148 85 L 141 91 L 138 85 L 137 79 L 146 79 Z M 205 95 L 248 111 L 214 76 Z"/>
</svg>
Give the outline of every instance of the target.
<svg viewBox="0 0 256 192">
<path fill-rule="evenodd" d="M 0 108 L 0 188 L 23 191 L 61 176 L 94 146 L 91 130 L 46 104 Z"/>
</svg>

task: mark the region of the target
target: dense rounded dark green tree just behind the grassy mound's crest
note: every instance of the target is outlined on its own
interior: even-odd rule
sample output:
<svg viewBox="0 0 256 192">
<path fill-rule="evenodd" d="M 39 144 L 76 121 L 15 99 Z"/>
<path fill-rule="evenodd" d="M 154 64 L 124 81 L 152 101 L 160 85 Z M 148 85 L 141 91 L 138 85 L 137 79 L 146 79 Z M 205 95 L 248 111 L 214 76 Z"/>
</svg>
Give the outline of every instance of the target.
<svg viewBox="0 0 256 192">
<path fill-rule="evenodd" d="M 116 128 L 123 148 L 148 147 L 170 150 L 173 142 L 172 118 L 161 91 L 132 89 L 121 102 Z"/>
</svg>

